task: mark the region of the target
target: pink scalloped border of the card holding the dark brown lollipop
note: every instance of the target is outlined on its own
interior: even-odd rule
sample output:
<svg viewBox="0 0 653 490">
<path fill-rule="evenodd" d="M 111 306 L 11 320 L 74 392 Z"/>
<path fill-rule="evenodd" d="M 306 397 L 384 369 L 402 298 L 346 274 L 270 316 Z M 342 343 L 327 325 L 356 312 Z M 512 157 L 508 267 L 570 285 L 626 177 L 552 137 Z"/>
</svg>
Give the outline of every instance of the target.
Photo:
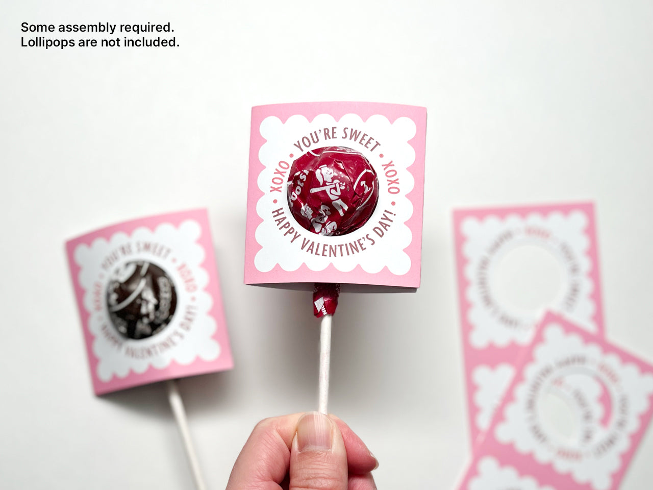
<svg viewBox="0 0 653 490">
<path fill-rule="evenodd" d="M 112 235 L 118 232 L 131 235 L 135 229 L 139 227 L 144 227 L 150 229 L 150 231 L 154 231 L 154 229 L 162 223 L 170 223 L 174 227 L 179 227 L 182 221 L 185 220 L 197 221 L 202 229 L 202 234 L 197 240 L 197 243 L 204 249 L 204 261 L 200 264 L 200 267 L 206 270 L 209 276 L 204 291 L 206 291 L 206 293 L 208 293 L 213 299 L 213 306 L 208 311 L 208 315 L 212 316 L 216 323 L 215 333 L 212 338 L 214 338 L 221 347 L 220 355 L 214 361 L 204 361 L 203 359 L 196 357 L 195 361 L 188 365 L 182 365 L 176 361 L 171 361 L 170 364 L 163 369 L 150 366 L 142 374 L 138 374 L 130 369 L 129 373 L 124 378 L 119 378 L 114 375 L 108 382 L 103 382 L 96 374 L 99 359 L 97 359 L 93 353 L 93 341 L 95 340 L 95 337 L 91 334 L 91 331 L 88 328 L 90 314 L 86 311 L 86 308 L 84 308 L 84 294 L 86 293 L 86 290 L 78 281 L 78 274 L 80 273 L 81 267 L 78 266 L 74 260 L 75 249 L 80 244 L 90 246 L 96 238 L 110 240 Z M 123 221 L 121 223 L 97 229 L 91 233 L 86 233 L 80 237 L 68 240 L 66 242 L 66 252 L 72 286 L 77 301 L 77 308 L 80 314 L 80 320 L 82 321 L 82 332 L 84 333 L 86 354 L 88 356 L 89 370 L 91 372 L 91 380 L 93 382 L 93 391 L 95 391 L 95 395 L 104 395 L 105 393 L 111 393 L 112 391 L 168 380 L 171 378 L 183 378 L 185 376 L 195 376 L 197 374 L 206 374 L 208 372 L 233 368 L 234 363 L 231 353 L 231 345 L 229 344 L 225 314 L 222 306 L 222 295 L 217 276 L 217 267 L 215 265 L 208 212 L 205 208 L 148 216 L 146 218 Z"/>
</svg>

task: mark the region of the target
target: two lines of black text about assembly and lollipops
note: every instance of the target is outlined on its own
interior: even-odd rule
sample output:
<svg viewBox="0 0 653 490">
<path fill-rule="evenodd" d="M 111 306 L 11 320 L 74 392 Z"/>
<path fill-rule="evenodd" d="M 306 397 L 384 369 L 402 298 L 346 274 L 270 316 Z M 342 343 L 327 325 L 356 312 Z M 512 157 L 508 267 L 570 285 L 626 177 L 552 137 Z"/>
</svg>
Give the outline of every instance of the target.
<svg viewBox="0 0 653 490">
<path fill-rule="evenodd" d="M 174 48 L 178 41 L 167 24 L 37 24 L 22 22 L 24 48 Z"/>
</svg>

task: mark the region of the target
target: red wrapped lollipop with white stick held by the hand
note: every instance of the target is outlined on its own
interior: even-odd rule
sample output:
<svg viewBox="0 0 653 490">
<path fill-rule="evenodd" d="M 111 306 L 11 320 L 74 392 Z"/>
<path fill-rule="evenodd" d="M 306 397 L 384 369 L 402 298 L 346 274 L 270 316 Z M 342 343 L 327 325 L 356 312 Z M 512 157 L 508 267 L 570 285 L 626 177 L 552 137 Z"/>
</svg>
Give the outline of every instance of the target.
<svg viewBox="0 0 653 490">
<path fill-rule="evenodd" d="M 288 204 L 302 227 L 318 235 L 346 235 L 370 219 L 379 199 L 379 181 L 362 154 L 343 146 L 312 150 L 293 162 Z M 313 313 L 322 318 L 319 411 L 327 413 L 331 317 L 340 284 L 315 284 Z"/>
</svg>

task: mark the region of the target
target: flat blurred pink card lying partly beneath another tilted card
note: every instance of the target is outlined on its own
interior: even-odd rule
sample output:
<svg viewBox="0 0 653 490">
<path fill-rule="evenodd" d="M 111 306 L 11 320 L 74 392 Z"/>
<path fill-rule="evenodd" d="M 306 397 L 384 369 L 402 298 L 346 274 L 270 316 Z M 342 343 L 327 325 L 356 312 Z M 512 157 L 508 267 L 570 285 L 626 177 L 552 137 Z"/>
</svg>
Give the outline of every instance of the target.
<svg viewBox="0 0 653 490">
<path fill-rule="evenodd" d="M 545 308 L 603 335 L 594 206 L 456 210 L 454 235 L 474 444 Z"/>
</svg>

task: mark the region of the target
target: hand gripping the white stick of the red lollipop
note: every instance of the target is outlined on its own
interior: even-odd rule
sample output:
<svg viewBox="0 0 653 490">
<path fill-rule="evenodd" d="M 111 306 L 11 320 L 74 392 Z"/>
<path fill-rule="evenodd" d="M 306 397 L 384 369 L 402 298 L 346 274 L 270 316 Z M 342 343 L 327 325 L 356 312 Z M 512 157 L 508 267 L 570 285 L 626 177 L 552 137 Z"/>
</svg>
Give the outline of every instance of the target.
<svg viewBox="0 0 653 490">
<path fill-rule="evenodd" d="M 376 490 L 370 472 L 377 466 L 338 417 L 274 417 L 254 427 L 226 490 Z"/>
</svg>

